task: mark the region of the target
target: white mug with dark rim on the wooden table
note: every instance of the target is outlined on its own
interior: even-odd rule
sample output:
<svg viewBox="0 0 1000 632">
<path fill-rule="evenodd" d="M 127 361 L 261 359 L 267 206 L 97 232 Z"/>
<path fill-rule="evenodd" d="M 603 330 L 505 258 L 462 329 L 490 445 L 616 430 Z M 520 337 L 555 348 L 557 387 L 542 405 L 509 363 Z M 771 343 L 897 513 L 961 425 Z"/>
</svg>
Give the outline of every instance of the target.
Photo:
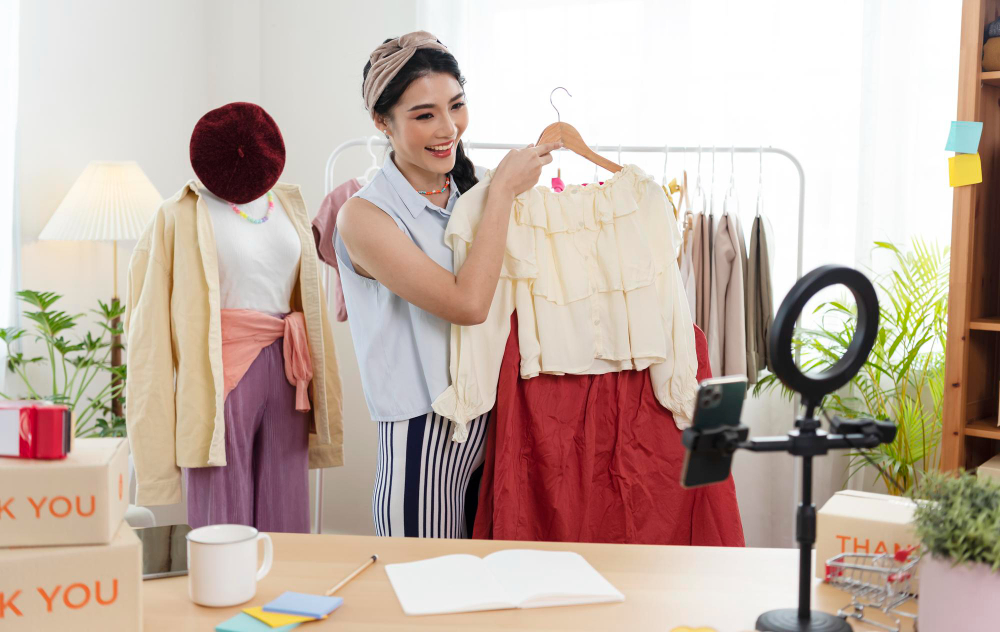
<svg viewBox="0 0 1000 632">
<path fill-rule="evenodd" d="M 257 568 L 257 541 L 264 563 Z M 274 545 L 266 533 L 240 524 L 199 527 L 187 534 L 188 594 L 202 606 L 236 606 L 257 594 L 257 582 L 271 572 Z"/>
</svg>

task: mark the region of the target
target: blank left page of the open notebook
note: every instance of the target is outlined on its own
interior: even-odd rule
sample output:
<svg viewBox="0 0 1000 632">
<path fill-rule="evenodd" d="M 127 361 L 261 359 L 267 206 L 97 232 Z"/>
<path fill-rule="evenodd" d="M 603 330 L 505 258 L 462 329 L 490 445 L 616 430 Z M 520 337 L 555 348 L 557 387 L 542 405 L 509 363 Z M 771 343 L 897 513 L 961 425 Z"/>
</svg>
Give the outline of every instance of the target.
<svg viewBox="0 0 1000 632">
<path fill-rule="evenodd" d="M 385 567 L 403 612 L 449 614 L 515 608 L 483 560 L 473 555 L 445 555 Z"/>
</svg>

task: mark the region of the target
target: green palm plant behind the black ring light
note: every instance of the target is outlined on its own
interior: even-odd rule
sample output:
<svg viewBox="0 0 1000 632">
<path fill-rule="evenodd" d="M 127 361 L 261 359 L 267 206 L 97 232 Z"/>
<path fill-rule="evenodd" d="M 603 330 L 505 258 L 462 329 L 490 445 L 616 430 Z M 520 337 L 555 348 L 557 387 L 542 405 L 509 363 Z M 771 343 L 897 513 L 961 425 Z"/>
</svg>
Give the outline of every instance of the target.
<svg viewBox="0 0 1000 632">
<path fill-rule="evenodd" d="M 948 310 L 947 248 L 920 239 L 909 251 L 886 242 L 875 254 L 888 256 L 888 272 L 874 275 L 879 295 L 879 331 L 868 361 L 851 383 L 823 401 L 823 408 L 848 418 L 895 422 L 896 440 L 851 457 L 847 478 L 872 465 L 890 494 L 905 493 L 919 473 L 937 470 L 944 400 L 944 353 Z M 857 329 L 855 305 L 828 301 L 814 311 L 813 327 L 793 340 L 804 371 L 832 367 L 847 351 Z M 761 378 L 754 394 L 781 387 L 773 376 Z"/>
</svg>

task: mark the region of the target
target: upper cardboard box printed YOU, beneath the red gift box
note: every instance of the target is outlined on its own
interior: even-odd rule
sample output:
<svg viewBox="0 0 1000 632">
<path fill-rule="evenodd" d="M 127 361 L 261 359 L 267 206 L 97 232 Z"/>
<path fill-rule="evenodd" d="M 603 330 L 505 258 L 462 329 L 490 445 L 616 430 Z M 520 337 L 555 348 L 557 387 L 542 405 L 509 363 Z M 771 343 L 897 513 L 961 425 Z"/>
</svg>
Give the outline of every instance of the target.
<svg viewBox="0 0 1000 632">
<path fill-rule="evenodd" d="M 126 439 L 77 439 L 57 461 L 0 458 L 0 547 L 107 544 L 126 485 Z"/>
</svg>

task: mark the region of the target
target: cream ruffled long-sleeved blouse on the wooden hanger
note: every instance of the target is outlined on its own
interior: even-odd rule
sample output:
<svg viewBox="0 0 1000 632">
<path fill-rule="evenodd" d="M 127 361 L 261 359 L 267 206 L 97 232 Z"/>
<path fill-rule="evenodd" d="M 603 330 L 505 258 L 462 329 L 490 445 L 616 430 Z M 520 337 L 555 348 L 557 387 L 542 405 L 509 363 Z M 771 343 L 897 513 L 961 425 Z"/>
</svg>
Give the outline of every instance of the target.
<svg viewBox="0 0 1000 632">
<path fill-rule="evenodd" d="M 495 170 L 466 191 L 445 230 L 455 271 L 469 256 Z M 517 310 L 520 373 L 601 374 L 649 368 L 657 400 L 691 423 L 698 358 L 677 267 L 681 234 L 667 197 L 626 165 L 604 184 L 538 186 L 510 215 L 500 283 L 485 322 L 451 327 L 451 386 L 433 404 L 467 424 L 496 402 L 510 315 Z"/>
</svg>

